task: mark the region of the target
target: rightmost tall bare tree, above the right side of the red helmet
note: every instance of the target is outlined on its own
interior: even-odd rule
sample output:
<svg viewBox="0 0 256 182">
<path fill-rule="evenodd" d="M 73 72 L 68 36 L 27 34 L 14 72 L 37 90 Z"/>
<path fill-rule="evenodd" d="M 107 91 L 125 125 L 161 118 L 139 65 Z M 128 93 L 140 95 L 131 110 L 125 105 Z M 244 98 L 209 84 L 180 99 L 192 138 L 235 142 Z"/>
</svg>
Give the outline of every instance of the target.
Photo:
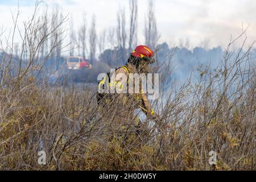
<svg viewBox="0 0 256 182">
<path fill-rule="evenodd" d="M 158 30 L 156 27 L 155 18 L 155 5 L 153 0 L 149 0 L 148 10 L 145 20 L 145 30 L 144 30 L 145 44 L 151 48 L 156 47 L 158 40 Z"/>
</svg>

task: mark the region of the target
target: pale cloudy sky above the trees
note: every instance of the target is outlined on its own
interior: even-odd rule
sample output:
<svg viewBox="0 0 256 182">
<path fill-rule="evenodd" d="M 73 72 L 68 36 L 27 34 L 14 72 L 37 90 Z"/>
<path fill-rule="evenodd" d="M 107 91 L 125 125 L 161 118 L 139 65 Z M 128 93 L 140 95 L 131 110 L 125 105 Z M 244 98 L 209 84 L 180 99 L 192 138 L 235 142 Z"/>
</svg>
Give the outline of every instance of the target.
<svg viewBox="0 0 256 182">
<path fill-rule="evenodd" d="M 138 39 L 143 43 L 144 16 L 147 0 L 138 0 Z M 18 0 L 0 0 L 0 27 L 11 27 L 11 11 L 17 8 Z M 48 0 L 51 8 L 59 6 L 63 14 L 73 16 L 75 28 L 81 23 L 85 11 L 88 22 L 96 15 L 97 32 L 116 24 L 117 11 L 129 9 L 129 0 Z M 19 22 L 32 13 L 34 1 L 19 0 Z M 208 48 L 226 47 L 230 35 L 238 36 L 243 27 L 250 24 L 247 31 L 248 40 L 256 40 L 256 1 L 254 0 L 155 0 L 155 13 L 160 42 L 180 44 L 187 40 L 186 46 L 207 46 Z"/>
</svg>

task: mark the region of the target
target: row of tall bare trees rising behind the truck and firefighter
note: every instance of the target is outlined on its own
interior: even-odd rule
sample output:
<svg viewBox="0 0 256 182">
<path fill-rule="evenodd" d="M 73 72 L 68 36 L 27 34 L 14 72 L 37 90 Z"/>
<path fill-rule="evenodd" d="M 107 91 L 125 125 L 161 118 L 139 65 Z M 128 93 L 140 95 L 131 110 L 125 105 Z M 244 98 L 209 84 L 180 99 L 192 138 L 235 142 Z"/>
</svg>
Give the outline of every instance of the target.
<svg viewBox="0 0 256 182">
<path fill-rule="evenodd" d="M 138 32 L 138 2 L 129 1 L 129 17 L 127 18 L 125 7 L 117 11 L 117 22 L 114 26 L 105 28 L 101 32 L 96 29 L 96 15 L 92 16 L 90 23 L 84 12 L 82 23 L 75 30 L 73 18 L 69 21 L 69 55 L 80 55 L 88 58 L 94 64 L 98 55 L 108 49 L 117 50 L 118 59 L 123 62 L 132 49 L 137 46 Z M 150 0 L 144 24 L 144 44 L 155 48 L 158 40 L 158 30 L 155 18 L 155 3 Z"/>
</svg>

